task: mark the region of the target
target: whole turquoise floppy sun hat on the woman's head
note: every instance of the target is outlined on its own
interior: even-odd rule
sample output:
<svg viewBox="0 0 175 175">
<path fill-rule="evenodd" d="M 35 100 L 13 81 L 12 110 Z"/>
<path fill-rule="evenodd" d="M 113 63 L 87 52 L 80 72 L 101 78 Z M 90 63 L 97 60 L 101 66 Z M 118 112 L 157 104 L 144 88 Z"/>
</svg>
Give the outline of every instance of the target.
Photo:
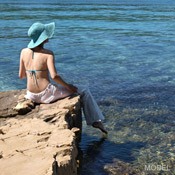
<svg viewBox="0 0 175 175">
<path fill-rule="evenodd" d="M 28 30 L 28 36 L 31 38 L 28 48 L 35 48 L 48 38 L 52 38 L 55 30 L 55 23 L 42 24 L 36 22 Z"/>
</svg>

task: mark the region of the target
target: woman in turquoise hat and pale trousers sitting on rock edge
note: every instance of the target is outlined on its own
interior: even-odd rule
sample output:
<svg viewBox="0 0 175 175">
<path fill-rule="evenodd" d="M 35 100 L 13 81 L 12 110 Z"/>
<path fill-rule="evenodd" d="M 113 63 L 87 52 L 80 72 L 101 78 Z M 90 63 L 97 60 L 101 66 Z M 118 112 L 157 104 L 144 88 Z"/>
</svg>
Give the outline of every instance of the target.
<svg viewBox="0 0 175 175">
<path fill-rule="evenodd" d="M 107 134 L 101 122 L 104 116 L 91 92 L 87 88 L 79 89 L 65 82 L 56 71 L 53 52 L 44 48 L 44 44 L 53 36 L 54 30 L 55 23 L 39 22 L 34 23 L 28 30 L 31 41 L 28 48 L 21 51 L 19 66 L 19 77 L 27 78 L 25 97 L 36 103 L 51 103 L 73 93 L 79 93 L 87 124 Z M 50 83 L 49 75 L 59 86 Z"/>
</svg>

